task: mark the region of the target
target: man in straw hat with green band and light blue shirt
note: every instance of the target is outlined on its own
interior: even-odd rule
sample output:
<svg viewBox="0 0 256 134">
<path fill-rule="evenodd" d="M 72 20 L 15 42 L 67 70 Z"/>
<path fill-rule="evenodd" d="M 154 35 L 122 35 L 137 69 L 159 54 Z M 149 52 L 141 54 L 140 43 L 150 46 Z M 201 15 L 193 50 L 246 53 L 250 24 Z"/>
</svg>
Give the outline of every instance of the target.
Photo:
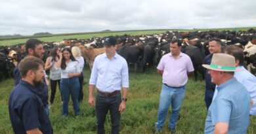
<svg viewBox="0 0 256 134">
<path fill-rule="evenodd" d="M 234 78 L 235 58 L 228 54 L 213 54 L 209 69 L 211 82 L 217 85 L 218 94 L 211 103 L 205 120 L 204 132 L 246 133 L 249 126 L 250 99 L 244 85 Z"/>
</svg>

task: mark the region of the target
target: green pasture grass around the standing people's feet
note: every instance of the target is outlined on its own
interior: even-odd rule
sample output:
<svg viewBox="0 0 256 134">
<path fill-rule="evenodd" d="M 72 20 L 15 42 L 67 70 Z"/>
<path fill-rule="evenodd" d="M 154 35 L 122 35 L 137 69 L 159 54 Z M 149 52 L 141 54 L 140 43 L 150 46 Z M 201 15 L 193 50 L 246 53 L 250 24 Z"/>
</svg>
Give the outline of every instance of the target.
<svg viewBox="0 0 256 134">
<path fill-rule="evenodd" d="M 89 107 L 88 101 L 88 82 L 91 71 L 89 67 L 84 69 L 84 99 L 80 105 L 81 115 L 75 116 L 72 107 L 72 101 L 69 105 L 69 116 L 61 115 L 60 92 L 57 89 L 53 105 L 50 109 L 50 120 L 53 125 L 54 133 L 96 133 L 95 127 L 95 108 Z M 161 91 L 161 76 L 157 74 L 156 67 L 147 69 L 145 73 L 129 70 L 129 93 L 127 109 L 121 113 L 121 132 L 129 134 L 153 133 L 154 124 L 157 120 L 159 96 Z M 12 79 L 0 82 L 0 132 L 13 133 L 11 122 L 9 120 L 8 99 L 14 82 Z M 49 95 L 51 90 L 49 88 Z M 177 126 L 179 134 L 197 134 L 203 133 L 205 117 L 207 111 L 204 103 L 204 81 L 194 81 L 193 76 L 189 78 L 186 84 L 186 97 L 184 99 L 181 117 Z M 171 110 L 171 108 L 170 108 Z M 167 125 L 169 123 L 169 114 L 165 120 L 163 133 L 169 133 Z M 256 132 L 256 117 L 251 116 L 251 123 L 248 129 L 249 134 Z M 108 114 L 105 123 L 106 133 L 110 133 L 111 123 Z"/>
</svg>

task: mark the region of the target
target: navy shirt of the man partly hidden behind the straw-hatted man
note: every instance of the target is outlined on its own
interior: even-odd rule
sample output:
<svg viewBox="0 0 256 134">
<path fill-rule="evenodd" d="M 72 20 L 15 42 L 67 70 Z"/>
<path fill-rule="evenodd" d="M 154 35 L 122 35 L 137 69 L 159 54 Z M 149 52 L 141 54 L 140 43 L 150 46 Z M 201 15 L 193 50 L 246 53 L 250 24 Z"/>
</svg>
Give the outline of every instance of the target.
<svg viewBox="0 0 256 134">
<path fill-rule="evenodd" d="M 213 58 L 213 54 L 209 54 L 205 56 L 203 64 L 210 65 L 211 58 Z M 208 74 L 209 69 L 205 69 L 205 90 L 213 90 L 215 91 L 215 84 L 211 82 L 211 75 Z"/>
</svg>

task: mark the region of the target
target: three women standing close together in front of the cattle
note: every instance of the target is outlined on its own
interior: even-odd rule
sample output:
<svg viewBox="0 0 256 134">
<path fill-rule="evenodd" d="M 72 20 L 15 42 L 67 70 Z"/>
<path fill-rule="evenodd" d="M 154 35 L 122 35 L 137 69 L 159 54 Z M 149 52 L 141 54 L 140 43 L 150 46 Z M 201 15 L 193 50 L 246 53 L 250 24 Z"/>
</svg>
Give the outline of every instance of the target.
<svg viewBox="0 0 256 134">
<path fill-rule="evenodd" d="M 72 98 L 75 115 L 79 115 L 79 101 L 83 100 L 84 59 L 77 46 L 63 48 L 55 46 L 45 62 L 45 71 L 50 72 L 51 97 L 53 105 L 56 87 L 60 89 L 62 114 L 68 115 L 68 102 Z"/>
</svg>

